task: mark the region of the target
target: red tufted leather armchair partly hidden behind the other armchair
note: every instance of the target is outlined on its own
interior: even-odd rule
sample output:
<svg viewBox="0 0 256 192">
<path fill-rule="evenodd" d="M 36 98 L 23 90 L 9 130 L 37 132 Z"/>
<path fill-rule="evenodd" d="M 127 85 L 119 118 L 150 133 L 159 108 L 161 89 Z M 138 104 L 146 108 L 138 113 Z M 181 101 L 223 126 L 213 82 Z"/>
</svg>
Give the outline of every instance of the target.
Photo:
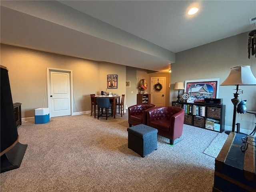
<svg viewBox="0 0 256 192">
<path fill-rule="evenodd" d="M 128 107 L 128 123 L 132 125 L 146 124 L 146 112 L 149 108 L 155 107 L 154 104 L 133 105 Z"/>
</svg>

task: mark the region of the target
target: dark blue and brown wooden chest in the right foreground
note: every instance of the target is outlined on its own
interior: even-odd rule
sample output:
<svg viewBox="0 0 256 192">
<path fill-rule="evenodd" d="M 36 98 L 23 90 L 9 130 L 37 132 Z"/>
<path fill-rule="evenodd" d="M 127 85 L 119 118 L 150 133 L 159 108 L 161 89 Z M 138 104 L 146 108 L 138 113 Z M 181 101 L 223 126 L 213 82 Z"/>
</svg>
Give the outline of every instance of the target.
<svg viewBox="0 0 256 192">
<path fill-rule="evenodd" d="M 213 192 L 256 192 L 256 152 L 253 145 L 241 150 L 245 136 L 230 132 L 215 159 Z"/>
</svg>

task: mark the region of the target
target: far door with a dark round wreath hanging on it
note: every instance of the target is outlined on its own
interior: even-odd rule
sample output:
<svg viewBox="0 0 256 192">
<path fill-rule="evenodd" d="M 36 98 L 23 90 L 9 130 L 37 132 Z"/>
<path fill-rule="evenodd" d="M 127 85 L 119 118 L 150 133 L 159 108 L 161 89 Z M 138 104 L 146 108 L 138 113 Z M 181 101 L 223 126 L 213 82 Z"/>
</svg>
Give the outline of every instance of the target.
<svg viewBox="0 0 256 192">
<path fill-rule="evenodd" d="M 154 85 L 157 83 L 162 85 L 162 89 L 159 91 L 154 89 Z M 165 106 L 165 84 L 166 77 L 151 77 L 151 103 L 158 107 Z"/>
</svg>

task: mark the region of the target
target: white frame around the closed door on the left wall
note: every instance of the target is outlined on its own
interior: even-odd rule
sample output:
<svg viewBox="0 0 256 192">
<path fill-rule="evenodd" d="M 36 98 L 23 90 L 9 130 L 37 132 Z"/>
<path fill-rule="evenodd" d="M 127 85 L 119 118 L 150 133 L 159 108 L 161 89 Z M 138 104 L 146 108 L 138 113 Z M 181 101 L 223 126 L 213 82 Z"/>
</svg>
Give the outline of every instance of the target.
<svg viewBox="0 0 256 192">
<path fill-rule="evenodd" d="M 73 71 L 72 70 L 67 70 L 67 69 L 57 69 L 57 68 L 46 68 L 47 70 L 47 95 L 48 95 L 48 107 L 50 110 L 50 92 L 51 92 L 51 85 L 50 85 L 50 72 L 51 71 L 59 71 L 59 72 L 67 72 L 70 73 L 70 110 L 71 110 L 71 115 L 74 115 L 73 112 Z M 51 110 L 50 110 L 51 111 Z M 50 113 L 51 117 L 51 113 Z"/>
</svg>

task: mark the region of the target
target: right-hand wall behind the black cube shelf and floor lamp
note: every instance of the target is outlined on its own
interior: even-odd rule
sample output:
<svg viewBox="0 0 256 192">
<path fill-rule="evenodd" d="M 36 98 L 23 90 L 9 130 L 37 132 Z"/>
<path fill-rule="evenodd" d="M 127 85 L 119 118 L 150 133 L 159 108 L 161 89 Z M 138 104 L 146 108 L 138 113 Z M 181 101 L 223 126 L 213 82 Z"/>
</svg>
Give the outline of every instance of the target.
<svg viewBox="0 0 256 192">
<path fill-rule="evenodd" d="M 170 102 L 177 100 L 178 90 L 174 90 L 175 82 L 208 78 L 220 78 L 220 84 L 228 77 L 230 68 L 235 66 L 251 66 L 256 76 L 256 58 L 248 59 L 248 33 L 239 34 L 210 44 L 192 48 L 176 54 L 176 63 L 172 64 Z M 226 104 L 226 129 L 231 130 L 234 106 L 235 86 L 220 86 L 219 97 Z M 256 110 L 256 86 L 240 86 L 244 94 L 240 99 L 247 100 L 247 110 Z M 183 92 L 181 92 L 183 93 Z M 237 114 L 241 132 L 248 132 L 255 126 L 252 114 Z"/>
</svg>

